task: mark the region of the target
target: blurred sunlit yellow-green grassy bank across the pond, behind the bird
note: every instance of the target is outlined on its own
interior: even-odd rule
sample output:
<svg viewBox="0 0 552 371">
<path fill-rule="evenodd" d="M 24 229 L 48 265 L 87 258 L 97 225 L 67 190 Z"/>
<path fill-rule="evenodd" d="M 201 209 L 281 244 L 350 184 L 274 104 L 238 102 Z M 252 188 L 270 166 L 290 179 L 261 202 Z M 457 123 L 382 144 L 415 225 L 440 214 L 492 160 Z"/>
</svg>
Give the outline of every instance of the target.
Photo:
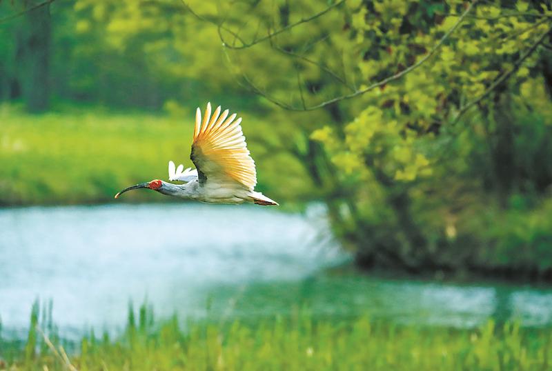
<svg viewBox="0 0 552 371">
<path fill-rule="evenodd" d="M 258 189 L 281 199 L 308 194 L 302 166 L 255 140 L 272 123 L 247 112 L 244 131 L 262 166 Z M 142 181 L 167 177 L 168 160 L 193 166 L 193 110 L 166 114 L 70 108 L 40 115 L 0 106 L 0 205 L 100 203 Z M 283 169 L 289 188 L 279 185 Z M 125 194 L 123 201 L 166 200 L 155 192 Z"/>
</svg>

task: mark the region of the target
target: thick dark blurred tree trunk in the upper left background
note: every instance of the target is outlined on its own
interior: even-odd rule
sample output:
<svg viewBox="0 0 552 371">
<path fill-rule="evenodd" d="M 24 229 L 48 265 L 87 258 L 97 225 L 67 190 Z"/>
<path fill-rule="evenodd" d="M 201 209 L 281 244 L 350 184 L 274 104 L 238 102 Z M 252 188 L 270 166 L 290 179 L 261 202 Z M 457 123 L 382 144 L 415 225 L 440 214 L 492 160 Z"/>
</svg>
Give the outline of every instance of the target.
<svg viewBox="0 0 552 371">
<path fill-rule="evenodd" d="M 37 5 L 29 1 L 28 7 Z M 50 103 L 50 43 L 52 25 L 48 6 L 31 10 L 26 14 L 23 30 L 23 98 L 29 112 L 41 112 Z"/>
</svg>

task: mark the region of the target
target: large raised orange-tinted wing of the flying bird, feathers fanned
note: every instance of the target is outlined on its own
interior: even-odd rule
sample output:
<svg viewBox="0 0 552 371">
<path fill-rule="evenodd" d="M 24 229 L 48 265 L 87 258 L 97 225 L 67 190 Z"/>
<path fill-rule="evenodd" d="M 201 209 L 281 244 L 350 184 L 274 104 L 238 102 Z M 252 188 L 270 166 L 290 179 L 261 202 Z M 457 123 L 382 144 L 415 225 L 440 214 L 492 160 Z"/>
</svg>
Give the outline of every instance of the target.
<svg viewBox="0 0 552 371">
<path fill-rule="evenodd" d="M 257 172 L 242 126 L 239 125 L 242 118 L 234 121 L 236 114 L 228 117 L 228 110 L 221 113 L 220 106 L 211 115 L 210 103 L 207 103 L 204 113 L 201 121 L 201 110 L 197 108 L 190 155 L 197 168 L 199 182 L 237 182 L 253 190 L 257 184 Z"/>
</svg>

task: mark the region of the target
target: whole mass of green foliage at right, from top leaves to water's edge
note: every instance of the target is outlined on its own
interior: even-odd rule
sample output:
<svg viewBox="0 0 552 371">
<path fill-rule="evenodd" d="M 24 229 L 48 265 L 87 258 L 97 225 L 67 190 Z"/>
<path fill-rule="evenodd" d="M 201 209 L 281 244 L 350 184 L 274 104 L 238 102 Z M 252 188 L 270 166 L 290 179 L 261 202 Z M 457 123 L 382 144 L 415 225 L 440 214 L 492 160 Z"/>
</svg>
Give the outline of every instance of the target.
<svg viewBox="0 0 552 371">
<path fill-rule="evenodd" d="M 368 81 L 420 61 L 465 10 L 460 2 L 357 4 L 348 6 Z M 359 112 L 346 125 L 311 135 L 348 190 L 330 210 L 336 234 L 362 265 L 552 272 L 549 208 L 538 207 L 549 203 L 552 184 L 551 90 L 541 77 L 549 53 L 532 54 L 479 110 L 455 121 L 549 29 L 546 6 L 518 1 L 516 9 L 478 3 L 435 57 L 343 105 Z M 515 194 L 527 208 L 509 204 Z"/>
</svg>

